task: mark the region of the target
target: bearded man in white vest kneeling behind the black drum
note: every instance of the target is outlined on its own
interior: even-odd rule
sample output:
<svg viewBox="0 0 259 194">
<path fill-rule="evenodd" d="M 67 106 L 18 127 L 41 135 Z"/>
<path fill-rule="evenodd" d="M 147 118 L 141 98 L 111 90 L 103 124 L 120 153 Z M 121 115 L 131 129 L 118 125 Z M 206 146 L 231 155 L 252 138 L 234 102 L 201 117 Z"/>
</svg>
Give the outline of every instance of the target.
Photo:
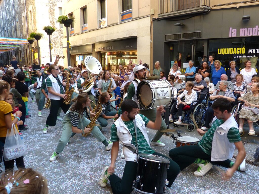
<svg viewBox="0 0 259 194">
<path fill-rule="evenodd" d="M 164 107 L 160 106 L 156 111 L 156 120 L 155 122 L 150 121 L 144 115 L 138 114 L 138 105 L 135 101 L 131 99 L 124 100 L 121 104 L 122 114 L 119 119 L 112 125 L 111 128 L 111 141 L 113 142 L 112 151 L 111 151 L 111 165 L 106 166 L 103 170 L 102 176 L 99 180 L 99 185 L 101 187 L 105 187 L 107 185 L 107 181 L 110 180 L 111 188 L 113 193 L 131 193 L 132 192 L 132 183 L 134 180 L 138 180 L 136 178 L 137 175 L 137 167 L 138 167 L 138 155 L 139 158 L 141 155 L 148 155 L 154 159 L 156 157 L 159 159 L 168 160 L 167 156 L 164 156 L 160 153 L 155 152 L 151 149 L 149 145 L 149 140 L 147 136 L 146 126 L 151 129 L 159 130 L 161 126 L 161 114 L 164 112 Z M 137 134 L 137 135 L 136 135 Z M 119 141 L 123 144 L 123 154 L 125 156 L 126 165 L 123 172 L 123 177 L 120 179 L 114 173 L 114 167 L 116 158 L 119 152 Z M 153 154 L 153 155 L 152 155 Z M 162 157 L 160 157 L 162 156 Z M 161 168 L 162 163 L 161 161 Z M 170 165 L 167 169 L 167 180 L 168 187 L 170 187 L 174 180 L 176 179 L 178 173 L 180 172 L 180 168 L 177 163 L 169 159 Z M 146 165 L 145 165 L 146 166 Z M 159 163 L 160 167 L 160 163 Z M 159 170 L 159 168 L 157 168 Z M 165 190 L 166 180 L 161 181 L 161 177 L 158 177 L 156 172 L 150 172 L 153 175 L 153 180 L 158 180 L 161 182 L 163 189 Z M 139 177 L 140 178 L 140 177 Z M 142 178 L 142 176 L 141 176 Z M 154 186 L 155 189 L 159 189 L 157 185 L 149 182 L 148 185 L 141 186 L 141 189 L 146 187 Z M 155 188 L 156 187 L 156 188 Z M 164 191 L 165 192 L 165 191 Z"/>
</svg>

